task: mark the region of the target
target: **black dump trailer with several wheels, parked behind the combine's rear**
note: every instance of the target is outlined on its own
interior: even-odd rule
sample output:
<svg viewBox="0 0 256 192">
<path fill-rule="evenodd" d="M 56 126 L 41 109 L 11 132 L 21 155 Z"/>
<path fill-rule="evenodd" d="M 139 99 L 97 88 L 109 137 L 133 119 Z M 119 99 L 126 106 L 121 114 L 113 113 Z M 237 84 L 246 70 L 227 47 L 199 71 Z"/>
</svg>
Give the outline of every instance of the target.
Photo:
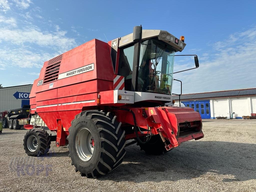
<svg viewBox="0 0 256 192">
<path fill-rule="evenodd" d="M 27 119 L 30 115 L 30 105 L 23 105 L 22 108 L 8 110 L 7 115 L 2 120 L 3 128 L 7 125 L 9 129 L 18 130 L 22 125 L 27 124 Z"/>
</svg>

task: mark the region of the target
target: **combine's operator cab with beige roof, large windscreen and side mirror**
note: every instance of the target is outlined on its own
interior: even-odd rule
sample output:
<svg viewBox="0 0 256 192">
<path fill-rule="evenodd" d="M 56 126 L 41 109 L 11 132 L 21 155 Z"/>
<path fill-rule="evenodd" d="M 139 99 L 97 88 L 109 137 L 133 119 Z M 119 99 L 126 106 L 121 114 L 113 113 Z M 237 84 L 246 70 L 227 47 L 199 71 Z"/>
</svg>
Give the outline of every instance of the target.
<svg viewBox="0 0 256 192">
<path fill-rule="evenodd" d="M 150 102 L 157 106 L 172 102 L 174 56 L 186 46 L 183 36 L 178 39 L 167 31 L 142 30 L 136 26 L 133 33 L 109 44 L 115 74 L 124 77 L 121 90 L 125 92 L 114 88 L 114 98 L 124 99 L 115 102 L 139 105 Z M 196 55 L 195 63 L 199 67 Z M 132 101 L 125 99 L 129 94 Z"/>
</svg>

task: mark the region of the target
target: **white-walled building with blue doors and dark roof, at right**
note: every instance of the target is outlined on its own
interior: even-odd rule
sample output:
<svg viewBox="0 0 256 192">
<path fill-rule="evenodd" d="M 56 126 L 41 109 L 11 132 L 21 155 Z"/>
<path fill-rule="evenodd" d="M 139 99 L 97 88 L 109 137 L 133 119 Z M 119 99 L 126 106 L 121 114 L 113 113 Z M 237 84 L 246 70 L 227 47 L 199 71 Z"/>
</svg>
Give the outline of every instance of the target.
<svg viewBox="0 0 256 192">
<path fill-rule="evenodd" d="M 179 96 L 173 96 L 179 103 Z M 199 112 L 202 119 L 242 119 L 256 113 L 256 88 L 183 94 L 180 101 Z"/>
</svg>

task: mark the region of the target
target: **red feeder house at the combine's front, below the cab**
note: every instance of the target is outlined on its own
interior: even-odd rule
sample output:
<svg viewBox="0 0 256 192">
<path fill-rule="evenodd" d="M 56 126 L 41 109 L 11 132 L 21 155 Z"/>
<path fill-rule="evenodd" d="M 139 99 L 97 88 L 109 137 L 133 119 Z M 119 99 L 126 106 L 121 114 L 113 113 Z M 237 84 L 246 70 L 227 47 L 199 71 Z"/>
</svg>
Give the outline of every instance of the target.
<svg viewBox="0 0 256 192">
<path fill-rule="evenodd" d="M 201 116 L 192 108 L 165 106 L 130 109 L 134 112 L 136 122 L 139 127 L 147 129 L 147 126 L 150 126 L 154 131 L 161 131 L 164 137 L 169 140 L 170 148 L 177 147 L 180 143 L 188 140 L 197 140 L 204 137 L 204 134 L 202 133 Z M 143 116 L 143 110 L 146 113 L 147 119 L 153 118 L 150 119 L 150 122 L 146 121 L 145 117 Z M 118 117 L 120 122 L 134 125 L 133 116 L 129 111 L 120 112 Z M 183 134 L 180 133 L 180 126 L 182 123 L 188 124 L 186 131 L 183 132 Z M 191 126 L 192 129 L 189 129 L 189 126 Z M 157 132 L 155 131 L 153 134 L 157 134 Z M 126 139 L 134 137 L 128 135 Z"/>
</svg>

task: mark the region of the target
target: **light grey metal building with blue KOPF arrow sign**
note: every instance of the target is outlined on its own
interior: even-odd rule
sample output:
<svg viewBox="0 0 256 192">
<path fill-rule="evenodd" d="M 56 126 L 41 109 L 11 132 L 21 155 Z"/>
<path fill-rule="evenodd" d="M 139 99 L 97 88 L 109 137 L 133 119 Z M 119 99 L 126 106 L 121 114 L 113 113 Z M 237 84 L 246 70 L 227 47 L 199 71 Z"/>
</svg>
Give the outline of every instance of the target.
<svg viewBox="0 0 256 192">
<path fill-rule="evenodd" d="M 31 84 L 0 88 L 0 112 L 29 105 L 31 89 Z"/>
</svg>

